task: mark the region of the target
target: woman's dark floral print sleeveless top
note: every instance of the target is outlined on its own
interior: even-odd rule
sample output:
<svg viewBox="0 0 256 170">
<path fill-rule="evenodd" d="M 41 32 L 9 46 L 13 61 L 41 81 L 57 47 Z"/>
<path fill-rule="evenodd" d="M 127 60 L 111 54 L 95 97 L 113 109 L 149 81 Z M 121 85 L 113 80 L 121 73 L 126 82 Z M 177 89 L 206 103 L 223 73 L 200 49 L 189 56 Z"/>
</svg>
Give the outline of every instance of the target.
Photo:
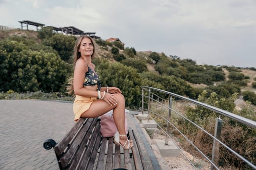
<svg viewBox="0 0 256 170">
<path fill-rule="evenodd" d="M 83 85 L 89 85 L 89 86 L 94 86 L 98 85 L 98 90 L 100 90 L 101 83 L 99 81 L 99 77 L 97 73 L 95 73 L 89 66 L 88 66 L 88 71 L 85 73 Z"/>
</svg>

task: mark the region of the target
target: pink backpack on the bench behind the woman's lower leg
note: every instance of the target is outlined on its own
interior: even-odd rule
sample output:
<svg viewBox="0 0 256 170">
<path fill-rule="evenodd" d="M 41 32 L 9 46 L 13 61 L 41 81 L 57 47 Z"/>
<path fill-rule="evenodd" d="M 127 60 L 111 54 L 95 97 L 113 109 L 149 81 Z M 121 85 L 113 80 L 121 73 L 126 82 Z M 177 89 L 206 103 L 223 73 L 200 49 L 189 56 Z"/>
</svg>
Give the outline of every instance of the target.
<svg viewBox="0 0 256 170">
<path fill-rule="evenodd" d="M 130 111 L 125 109 L 124 127 L 126 134 L 128 133 L 127 113 L 129 114 Z M 110 110 L 100 117 L 100 133 L 103 137 L 112 137 L 116 132 L 118 132 L 118 129 L 113 119 L 113 110 Z"/>
</svg>

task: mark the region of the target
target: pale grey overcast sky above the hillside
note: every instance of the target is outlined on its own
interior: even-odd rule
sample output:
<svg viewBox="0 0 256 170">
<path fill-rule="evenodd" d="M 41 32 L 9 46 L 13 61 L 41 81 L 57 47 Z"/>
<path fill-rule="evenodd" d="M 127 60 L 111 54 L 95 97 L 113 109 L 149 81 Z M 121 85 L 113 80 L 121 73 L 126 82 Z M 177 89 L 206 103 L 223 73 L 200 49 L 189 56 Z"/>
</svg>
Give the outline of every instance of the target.
<svg viewBox="0 0 256 170">
<path fill-rule="evenodd" d="M 22 20 L 197 64 L 256 67 L 256 0 L 0 0 L 0 25 L 21 28 Z"/>
</svg>

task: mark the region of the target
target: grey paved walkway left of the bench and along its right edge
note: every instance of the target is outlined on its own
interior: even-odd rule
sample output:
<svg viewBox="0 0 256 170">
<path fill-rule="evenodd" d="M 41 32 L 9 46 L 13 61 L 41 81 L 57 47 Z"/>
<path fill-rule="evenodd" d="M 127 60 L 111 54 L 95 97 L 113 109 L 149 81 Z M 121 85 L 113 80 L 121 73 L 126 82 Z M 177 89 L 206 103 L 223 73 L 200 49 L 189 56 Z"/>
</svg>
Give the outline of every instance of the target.
<svg viewBox="0 0 256 170">
<path fill-rule="evenodd" d="M 72 102 L 0 100 L 0 170 L 58 170 L 55 153 L 45 150 L 43 141 L 58 142 L 71 129 L 72 106 Z M 158 161 L 134 119 L 130 114 L 128 124 L 138 134 L 147 170 L 158 170 Z"/>
</svg>

